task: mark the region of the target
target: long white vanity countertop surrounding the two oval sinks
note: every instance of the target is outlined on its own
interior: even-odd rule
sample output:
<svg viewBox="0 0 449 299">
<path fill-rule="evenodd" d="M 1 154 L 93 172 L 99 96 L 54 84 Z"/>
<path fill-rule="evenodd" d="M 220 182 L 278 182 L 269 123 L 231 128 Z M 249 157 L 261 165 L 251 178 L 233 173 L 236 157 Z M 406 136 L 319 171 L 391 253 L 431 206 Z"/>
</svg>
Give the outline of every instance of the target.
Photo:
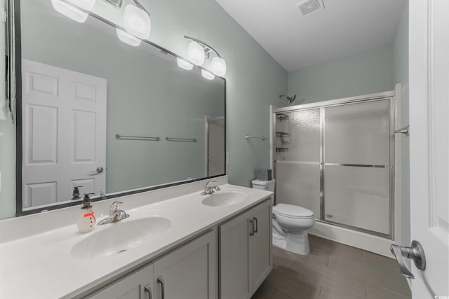
<svg viewBox="0 0 449 299">
<path fill-rule="evenodd" d="M 201 181 L 192 183 L 192 186 L 200 186 L 199 183 L 201 186 L 204 184 Z M 190 190 L 194 188 L 192 186 L 190 186 Z M 180 186 L 176 188 L 178 192 L 182 189 Z M 201 203 L 203 198 L 196 191 L 161 201 L 152 198 L 151 204 L 132 209 L 127 209 L 126 206 L 127 203 L 130 206 L 133 205 L 131 204 L 133 197 L 138 198 L 135 202 L 142 202 L 145 201 L 145 197 L 149 199 L 156 194 L 162 197 L 163 191 L 138 193 L 128 195 L 126 198 L 116 197 L 94 203 L 94 211 L 97 205 L 104 208 L 114 200 L 121 200 L 125 202 L 122 209 L 130 214 L 130 217 L 118 223 L 95 225 L 95 229 L 86 234 L 79 233 L 76 228 L 77 217 L 80 214 L 79 207 L 70 207 L 63 213 L 73 215 L 72 224 L 44 230 L 34 235 L 26 236 L 25 234 L 25 237 L 7 239 L 6 242 L 0 244 L 0 298 L 72 298 L 131 267 L 160 256 L 163 251 L 205 232 L 227 218 L 232 218 L 239 212 L 266 200 L 272 194 L 264 190 L 233 186 L 227 183 L 220 185 L 220 188 L 223 191 L 242 190 L 250 197 L 244 202 L 228 207 L 209 207 Z M 166 190 L 170 192 L 170 188 L 166 188 Z M 55 215 L 58 210 L 48 213 Z M 95 214 L 97 221 L 104 218 L 104 215 L 97 211 Z M 82 239 L 109 228 L 109 225 L 120 225 L 126 221 L 149 216 L 168 218 L 171 221 L 168 232 L 156 235 L 134 249 L 120 254 L 84 260 L 72 256 L 72 247 Z M 37 219 L 36 217 L 33 219 Z M 13 221 L 20 221 L 20 218 L 15 218 Z M 30 219 L 24 219 L 24 221 L 32 223 Z M 11 230 L 11 222 L 6 223 L 7 225 L 2 225 L 1 222 L 0 229 Z M 53 223 L 53 227 L 58 227 L 55 224 L 57 223 Z M 34 225 L 39 225 L 39 223 Z M 23 229 L 20 223 L 18 227 Z M 12 235 L 11 232 L 9 233 Z"/>
</svg>

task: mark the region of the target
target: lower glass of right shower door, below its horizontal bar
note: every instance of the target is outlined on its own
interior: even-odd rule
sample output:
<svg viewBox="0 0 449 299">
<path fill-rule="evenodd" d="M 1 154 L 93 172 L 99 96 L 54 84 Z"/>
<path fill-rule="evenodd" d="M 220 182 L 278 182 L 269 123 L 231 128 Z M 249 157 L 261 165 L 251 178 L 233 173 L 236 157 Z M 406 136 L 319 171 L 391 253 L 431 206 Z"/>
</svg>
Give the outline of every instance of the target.
<svg viewBox="0 0 449 299">
<path fill-rule="evenodd" d="M 327 166 L 325 219 L 389 234 L 389 168 Z"/>
</svg>

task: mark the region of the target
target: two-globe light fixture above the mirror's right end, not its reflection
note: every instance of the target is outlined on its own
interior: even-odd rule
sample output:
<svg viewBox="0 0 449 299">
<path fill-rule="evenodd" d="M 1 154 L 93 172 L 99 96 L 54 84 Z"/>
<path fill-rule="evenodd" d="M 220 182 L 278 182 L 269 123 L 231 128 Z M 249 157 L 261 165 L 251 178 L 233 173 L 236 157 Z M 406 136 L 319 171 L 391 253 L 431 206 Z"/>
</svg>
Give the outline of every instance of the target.
<svg viewBox="0 0 449 299">
<path fill-rule="evenodd" d="M 204 63 L 204 60 L 209 59 L 210 53 L 214 53 L 215 56 L 210 62 L 210 69 L 212 70 L 212 73 L 216 76 L 225 76 L 226 74 L 226 62 L 220 54 L 217 53 L 214 48 L 209 46 L 207 43 L 203 43 L 202 41 L 199 41 L 198 39 L 194 39 L 189 36 L 184 36 L 185 39 L 189 39 L 191 42 L 189 43 L 189 46 L 187 46 L 187 58 L 189 58 L 189 61 L 192 62 L 195 65 L 201 66 Z M 210 74 L 210 72 L 208 72 Z M 211 74 L 212 75 L 212 74 Z M 204 76 L 204 78 L 207 78 Z M 210 76 L 209 76 L 210 77 Z M 210 79 L 212 80 L 212 79 Z"/>
</svg>

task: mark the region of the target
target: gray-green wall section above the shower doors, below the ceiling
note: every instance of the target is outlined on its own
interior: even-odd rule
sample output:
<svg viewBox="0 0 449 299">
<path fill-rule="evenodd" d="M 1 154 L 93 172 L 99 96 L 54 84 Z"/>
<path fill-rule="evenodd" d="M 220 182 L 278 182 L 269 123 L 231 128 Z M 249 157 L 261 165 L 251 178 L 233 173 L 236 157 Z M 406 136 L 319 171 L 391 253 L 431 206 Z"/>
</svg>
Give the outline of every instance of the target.
<svg viewBox="0 0 449 299">
<path fill-rule="evenodd" d="M 288 73 L 293 104 L 353 97 L 394 89 L 393 45 L 385 45 Z"/>
</svg>

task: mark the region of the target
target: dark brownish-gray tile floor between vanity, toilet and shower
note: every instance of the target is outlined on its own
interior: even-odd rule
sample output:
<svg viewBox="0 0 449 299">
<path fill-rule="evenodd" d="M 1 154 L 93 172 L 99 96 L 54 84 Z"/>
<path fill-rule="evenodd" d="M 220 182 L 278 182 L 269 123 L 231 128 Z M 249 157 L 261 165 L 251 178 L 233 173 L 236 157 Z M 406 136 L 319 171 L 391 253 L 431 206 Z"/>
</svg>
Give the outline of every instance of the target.
<svg viewBox="0 0 449 299">
<path fill-rule="evenodd" d="M 309 242 L 307 256 L 273 246 L 273 270 L 251 299 L 411 298 L 395 260 L 312 235 Z"/>
</svg>

